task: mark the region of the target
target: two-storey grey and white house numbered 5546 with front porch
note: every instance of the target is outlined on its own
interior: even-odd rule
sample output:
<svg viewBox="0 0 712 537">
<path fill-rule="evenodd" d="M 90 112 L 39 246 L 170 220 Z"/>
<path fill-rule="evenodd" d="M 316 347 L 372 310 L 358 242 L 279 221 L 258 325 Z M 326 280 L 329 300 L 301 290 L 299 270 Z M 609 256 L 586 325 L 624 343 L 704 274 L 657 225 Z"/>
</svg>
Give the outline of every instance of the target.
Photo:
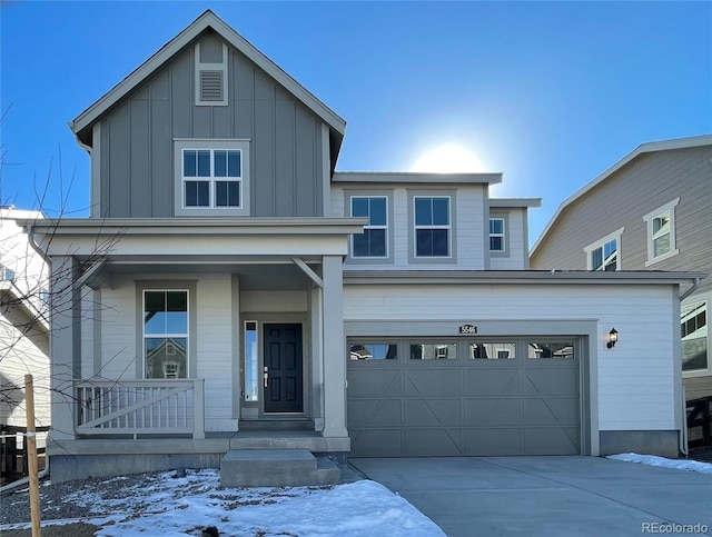
<svg viewBox="0 0 712 537">
<path fill-rule="evenodd" d="M 491 199 L 502 173 L 337 172 L 345 121 L 211 11 L 71 129 L 92 213 L 26 222 L 65 298 L 52 479 L 268 448 L 678 455 L 670 319 L 699 275 L 528 270 L 540 200 Z"/>
</svg>

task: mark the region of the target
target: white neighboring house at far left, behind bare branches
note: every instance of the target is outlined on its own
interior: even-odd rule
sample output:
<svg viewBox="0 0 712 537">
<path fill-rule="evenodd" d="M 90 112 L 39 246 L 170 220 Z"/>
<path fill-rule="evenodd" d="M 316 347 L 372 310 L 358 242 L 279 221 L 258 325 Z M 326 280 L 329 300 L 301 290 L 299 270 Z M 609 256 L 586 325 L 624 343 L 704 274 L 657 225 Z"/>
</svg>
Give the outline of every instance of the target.
<svg viewBox="0 0 712 537">
<path fill-rule="evenodd" d="M 38 211 L 0 208 L 0 426 L 27 427 L 24 376 L 34 384 L 38 427 L 50 425 L 49 268 L 18 220 Z M 43 447 L 46 432 L 38 434 Z"/>
</svg>

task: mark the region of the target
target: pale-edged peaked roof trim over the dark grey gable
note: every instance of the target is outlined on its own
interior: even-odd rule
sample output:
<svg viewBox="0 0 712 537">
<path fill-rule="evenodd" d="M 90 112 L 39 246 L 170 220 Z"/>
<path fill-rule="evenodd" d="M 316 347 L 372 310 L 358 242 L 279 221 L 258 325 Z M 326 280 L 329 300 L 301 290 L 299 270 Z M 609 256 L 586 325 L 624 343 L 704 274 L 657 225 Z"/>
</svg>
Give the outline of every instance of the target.
<svg viewBox="0 0 712 537">
<path fill-rule="evenodd" d="M 346 121 L 318 100 L 294 78 L 283 71 L 279 66 L 257 50 L 250 42 L 233 30 L 233 28 L 225 23 L 209 9 L 69 123 L 69 128 L 76 135 L 79 142 L 83 145 L 91 145 L 91 126 L 96 123 L 113 105 L 120 101 L 131 90 L 166 64 L 166 62 L 168 62 L 179 50 L 207 29 L 212 29 L 217 32 L 222 39 L 225 39 L 225 41 L 249 58 L 329 126 L 330 139 L 333 145 L 335 143 L 333 148 L 334 155 L 332 157 L 334 163 L 335 157 L 340 148 L 342 140 L 344 139 Z"/>
</svg>

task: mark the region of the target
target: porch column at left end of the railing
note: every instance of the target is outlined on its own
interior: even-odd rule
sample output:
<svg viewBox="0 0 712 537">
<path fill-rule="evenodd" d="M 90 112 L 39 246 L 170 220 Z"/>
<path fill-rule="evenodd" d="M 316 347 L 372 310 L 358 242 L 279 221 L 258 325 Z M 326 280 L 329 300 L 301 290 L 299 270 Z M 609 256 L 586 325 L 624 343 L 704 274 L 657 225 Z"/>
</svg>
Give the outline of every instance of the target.
<svg viewBox="0 0 712 537">
<path fill-rule="evenodd" d="M 50 262 L 50 375 L 52 440 L 75 438 L 75 380 L 81 374 L 81 299 L 75 286 L 78 262 L 71 256 Z"/>
</svg>

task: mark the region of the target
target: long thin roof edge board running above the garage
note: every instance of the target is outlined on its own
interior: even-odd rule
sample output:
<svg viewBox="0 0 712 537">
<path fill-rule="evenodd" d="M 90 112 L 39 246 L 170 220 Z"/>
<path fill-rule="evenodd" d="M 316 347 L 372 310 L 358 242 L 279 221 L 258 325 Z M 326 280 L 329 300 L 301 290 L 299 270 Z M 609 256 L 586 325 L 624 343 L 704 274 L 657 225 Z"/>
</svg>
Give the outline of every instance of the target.
<svg viewBox="0 0 712 537">
<path fill-rule="evenodd" d="M 702 272 L 550 270 L 344 270 L 345 284 L 363 285 L 678 285 Z"/>
</svg>

